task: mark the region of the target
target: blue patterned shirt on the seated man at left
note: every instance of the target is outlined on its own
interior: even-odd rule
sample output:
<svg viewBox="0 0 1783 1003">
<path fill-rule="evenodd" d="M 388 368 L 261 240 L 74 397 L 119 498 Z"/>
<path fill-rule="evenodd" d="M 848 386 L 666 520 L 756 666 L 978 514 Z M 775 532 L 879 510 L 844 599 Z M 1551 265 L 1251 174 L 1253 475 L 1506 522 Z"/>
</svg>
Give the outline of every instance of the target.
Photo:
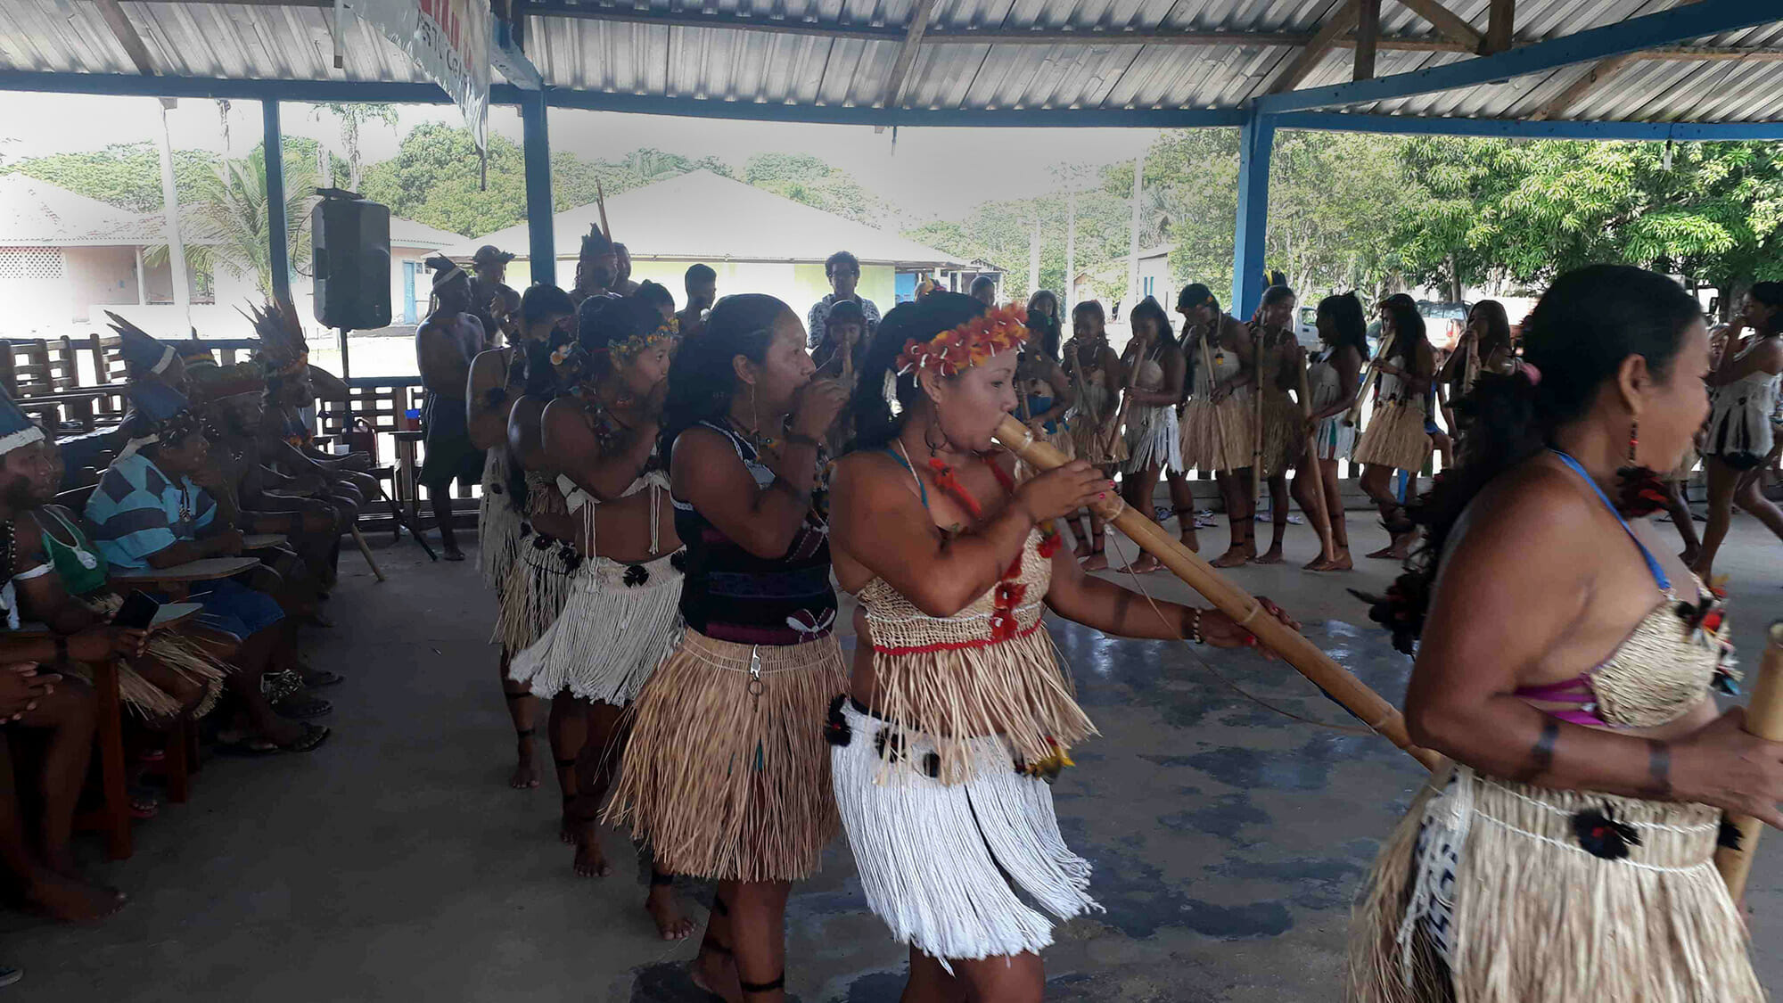
<svg viewBox="0 0 1783 1003">
<path fill-rule="evenodd" d="M 191 478 L 171 480 L 143 453 L 114 462 L 87 500 L 93 543 L 116 568 L 148 568 L 148 555 L 198 537 L 216 500 Z"/>
</svg>

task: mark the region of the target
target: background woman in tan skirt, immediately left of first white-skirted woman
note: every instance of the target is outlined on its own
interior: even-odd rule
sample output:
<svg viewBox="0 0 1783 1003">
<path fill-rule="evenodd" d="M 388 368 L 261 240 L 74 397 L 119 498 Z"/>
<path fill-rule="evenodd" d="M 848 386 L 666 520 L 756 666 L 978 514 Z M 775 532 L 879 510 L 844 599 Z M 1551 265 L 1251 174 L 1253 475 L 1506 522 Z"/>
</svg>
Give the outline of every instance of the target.
<svg viewBox="0 0 1783 1003">
<path fill-rule="evenodd" d="M 1072 439 L 1077 441 L 1073 450 L 1077 459 L 1102 469 L 1102 477 L 1114 477 L 1114 471 L 1127 462 L 1127 439 L 1120 435 L 1123 384 L 1120 355 L 1109 346 L 1104 323 L 1102 303 L 1097 300 L 1072 307 L 1072 339 L 1064 344 L 1064 371 L 1072 378 L 1077 405 L 1072 407 L 1068 425 Z M 1072 537 L 1077 541 L 1075 555 L 1084 562 L 1084 569 L 1107 568 L 1102 516 L 1089 512 L 1088 541 L 1075 516 L 1066 519 L 1066 525 L 1072 526 Z"/>
</svg>

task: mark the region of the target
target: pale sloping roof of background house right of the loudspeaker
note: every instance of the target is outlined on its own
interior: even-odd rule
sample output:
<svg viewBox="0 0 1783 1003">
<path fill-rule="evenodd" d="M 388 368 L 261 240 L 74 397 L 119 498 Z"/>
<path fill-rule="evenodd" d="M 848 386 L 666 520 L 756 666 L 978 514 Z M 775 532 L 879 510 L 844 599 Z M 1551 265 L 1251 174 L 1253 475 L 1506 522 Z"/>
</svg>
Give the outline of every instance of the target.
<svg viewBox="0 0 1783 1003">
<path fill-rule="evenodd" d="M 722 205 L 722 212 L 713 212 Z M 551 218 L 556 257 L 581 253 L 581 237 L 599 221 L 596 205 L 578 205 Z M 613 239 L 626 245 L 633 259 L 663 261 L 790 261 L 818 264 L 847 248 L 863 264 L 900 264 L 938 268 L 961 264 L 943 250 L 845 220 L 770 191 L 719 177 L 690 171 L 656 184 L 635 187 L 606 200 L 606 218 Z M 476 248 L 526 252 L 526 223 L 481 237 L 460 237 L 442 253 L 471 257 Z"/>
</svg>

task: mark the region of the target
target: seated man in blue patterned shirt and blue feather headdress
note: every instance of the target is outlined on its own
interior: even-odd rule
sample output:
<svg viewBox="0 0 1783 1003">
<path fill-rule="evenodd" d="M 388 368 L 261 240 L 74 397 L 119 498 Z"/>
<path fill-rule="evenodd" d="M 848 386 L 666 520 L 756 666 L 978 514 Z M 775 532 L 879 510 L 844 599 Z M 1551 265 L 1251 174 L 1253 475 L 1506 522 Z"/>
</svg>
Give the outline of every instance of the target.
<svg viewBox="0 0 1783 1003">
<path fill-rule="evenodd" d="M 218 518 L 216 500 L 193 480 L 214 475 L 214 468 L 210 443 L 185 398 L 152 382 L 132 384 L 130 396 L 137 427 L 87 500 L 86 518 L 100 553 L 116 568 L 175 568 L 239 555 L 242 532 Z M 235 578 L 194 582 L 189 596 L 205 609 L 198 623 L 241 641 L 228 689 L 241 701 L 244 730 L 235 741 L 225 737 L 225 744 L 253 755 L 314 750 L 328 728 L 287 721 L 260 691 L 269 667 L 292 666 L 296 632 L 278 601 L 250 584 L 253 578 L 276 575 L 255 568 Z"/>
</svg>

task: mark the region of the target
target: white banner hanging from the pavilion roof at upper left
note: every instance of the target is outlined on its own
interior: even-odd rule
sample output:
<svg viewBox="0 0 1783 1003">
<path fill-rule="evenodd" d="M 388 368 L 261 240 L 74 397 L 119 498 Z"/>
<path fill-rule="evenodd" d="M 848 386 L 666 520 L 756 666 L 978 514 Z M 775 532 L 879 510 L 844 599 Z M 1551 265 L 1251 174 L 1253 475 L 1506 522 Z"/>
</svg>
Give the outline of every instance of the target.
<svg viewBox="0 0 1783 1003">
<path fill-rule="evenodd" d="M 489 132 L 489 46 L 494 14 L 487 0 L 351 0 L 464 111 L 485 146 Z"/>
</svg>

